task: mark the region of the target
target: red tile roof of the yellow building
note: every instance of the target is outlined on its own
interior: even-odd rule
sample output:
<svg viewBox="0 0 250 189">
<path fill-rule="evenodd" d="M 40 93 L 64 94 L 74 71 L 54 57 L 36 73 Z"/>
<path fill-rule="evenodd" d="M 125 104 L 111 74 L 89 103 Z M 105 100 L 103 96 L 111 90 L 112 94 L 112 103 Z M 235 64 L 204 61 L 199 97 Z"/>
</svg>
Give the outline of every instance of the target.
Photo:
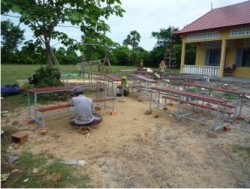
<svg viewBox="0 0 250 189">
<path fill-rule="evenodd" d="M 198 18 L 175 34 L 225 28 L 238 25 L 250 26 L 250 0 L 222 8 L 216 8 Z"/>
</svg>

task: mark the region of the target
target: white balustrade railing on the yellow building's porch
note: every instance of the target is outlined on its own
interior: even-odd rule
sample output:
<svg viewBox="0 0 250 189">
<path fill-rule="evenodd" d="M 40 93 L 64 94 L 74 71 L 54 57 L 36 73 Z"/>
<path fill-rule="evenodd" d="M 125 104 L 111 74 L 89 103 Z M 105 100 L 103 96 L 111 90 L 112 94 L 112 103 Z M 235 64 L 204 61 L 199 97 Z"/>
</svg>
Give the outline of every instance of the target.
<svg viewBox="0 0 250 189">
<path fill-rule="evenodd" d="M 182 73 L 219 76 L 219 66 L 184 65 Z"/>
</svg>

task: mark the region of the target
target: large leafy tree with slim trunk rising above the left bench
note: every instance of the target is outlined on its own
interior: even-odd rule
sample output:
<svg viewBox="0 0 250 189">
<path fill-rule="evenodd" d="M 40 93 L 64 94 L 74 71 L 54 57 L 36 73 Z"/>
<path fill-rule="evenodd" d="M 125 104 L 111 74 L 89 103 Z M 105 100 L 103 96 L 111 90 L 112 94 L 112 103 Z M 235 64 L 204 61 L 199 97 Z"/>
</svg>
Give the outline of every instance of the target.
<svg viewBox="0 0 250 189">
<path fill-rule="evenodd" d="M 51 39 L 77 48 L 77 42 L 66 33 L 56 31 L 56 26 L 70 23 L 80 27 L 85 36 L 98 38 L 109 30 L 104 19 L 113 14 L 123 16 L 125 11 L 120 4 L 120 0 L 2 0 L 1 12 L 21 15 L 20 22 L 34 32 L 38 44 L 45 45 L 46 63 L 52 66 Z"/>
</svg>

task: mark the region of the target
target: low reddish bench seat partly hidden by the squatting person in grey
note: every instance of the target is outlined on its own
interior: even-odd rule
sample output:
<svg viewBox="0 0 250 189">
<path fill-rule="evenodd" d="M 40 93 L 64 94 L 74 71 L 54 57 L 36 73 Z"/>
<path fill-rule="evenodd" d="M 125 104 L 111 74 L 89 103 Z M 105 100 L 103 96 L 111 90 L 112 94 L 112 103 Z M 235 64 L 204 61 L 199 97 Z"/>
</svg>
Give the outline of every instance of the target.
<svg viewBox="0 0 250 189">
<path fill-rule="evenodd" d="M 114 110 L 114 100 L 115 100 L 115 97 L 106 97 L 106 98 L 98 98 L 98 99 L 93 99 L 93 103 L 100 103 L 100 102 L 106 102 L 108 100 L 113 100 L 113 107 L 112 107 L 112 110 Z M 71 104 L 60 104 L 60 105 L 55 105 L 55 106 L 49 106 L 49 107 L 42 107 L 42 108 L 38 108 L 37 111 L 42 113 L 42 120 L 41 120 L 41 125 L 42 127 L 45 126 L 45 116 L 46 116 L 46 112 L 49 112 L 49 111 L 53 111 L 53 110 L 59 110 L 59 109 L 65 109 L 67 108 L 67 111 L 69 111 L 69 108 L 70 107 L 73 107 Z M 104 105 L 104 107 L 106 108 L 106 105 Z M 58 112 L 56 112 L 58 113 Z M 54 113 L 54 114 L 56 114 Z M 54 114 L 51 114 L 50 115 L 54 115 Z"/>
</svg>

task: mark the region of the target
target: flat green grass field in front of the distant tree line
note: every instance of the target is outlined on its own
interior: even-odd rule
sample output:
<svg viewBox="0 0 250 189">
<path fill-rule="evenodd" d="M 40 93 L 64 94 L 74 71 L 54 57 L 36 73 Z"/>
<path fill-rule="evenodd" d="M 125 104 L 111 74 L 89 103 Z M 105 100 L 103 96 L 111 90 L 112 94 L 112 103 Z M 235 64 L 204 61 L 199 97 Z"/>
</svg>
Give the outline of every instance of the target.
<svg viewBox="0 0 250 189">
<path fill-rule="evenodd" d="M 45 65 L 43 65 L 45 66 Z M 20 65 L 20 64 L 1 64 L 1 85 L 17 83 L 16 80 L 27 79 L 28 76 L 35 74 L 35 70 L 41 65 Z M 62 70 L 72 70 L 77 73 L 75 65 L 61 65 Z M 135 69 L 132 66 L 112 66 L 112 72 L 120 70 Z M 97 71 L 97 67 L 92 71 Z"/>
</svg>

